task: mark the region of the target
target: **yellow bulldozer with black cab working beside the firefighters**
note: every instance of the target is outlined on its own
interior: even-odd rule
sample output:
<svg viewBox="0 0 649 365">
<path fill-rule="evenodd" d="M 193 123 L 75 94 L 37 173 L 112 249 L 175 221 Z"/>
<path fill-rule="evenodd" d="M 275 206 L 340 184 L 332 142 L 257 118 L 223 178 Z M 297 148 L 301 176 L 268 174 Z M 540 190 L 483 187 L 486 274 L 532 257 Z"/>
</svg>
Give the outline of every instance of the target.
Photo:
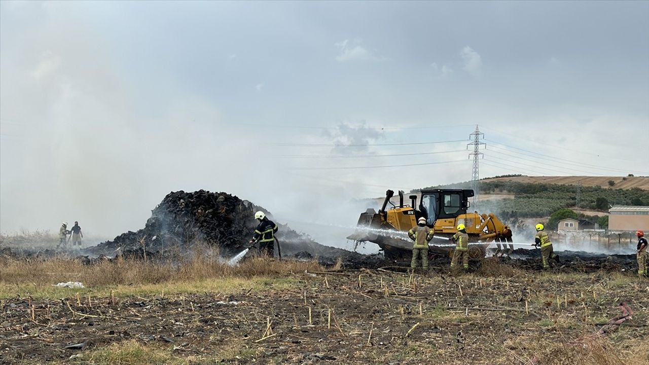
<svg viewBox="0 0 649 365">
<path fill-rule="evenodd" d="M 454 244 L 448 238 L 457 232 L 463 223 L 469 234 L 469 257 L 484 258 L 489 242 L 501 238 L 505 225 L 494 214 L 467 212 L 474 196 L 469 189 L 422 190 L 417 206 L 417 195 L 410 195 L 410 205 L 404 205 L 404 192 L 399 191 L 399 205 L 394 205 L 392 190 L 387 190 L 381 209 L 376 212 L 368 208 L 358 218 L 356 231 L 347 237 L 357 242 L 373 242 L 383 249 L 386 258 L 402 258 L 412 251 L 413 243 L 408 231 L 417 225 L 417 220 L 426 218 L 426 225 L 434 229 L 434 241 L 430 242 L 429 255 L 452 255 Z M 393 207 L 386 210 L 387 205 Z M 415 208 L 416 207 L 416 208 Z M 478 244 L 475 244 L 475 243 Z"/>
</svg>

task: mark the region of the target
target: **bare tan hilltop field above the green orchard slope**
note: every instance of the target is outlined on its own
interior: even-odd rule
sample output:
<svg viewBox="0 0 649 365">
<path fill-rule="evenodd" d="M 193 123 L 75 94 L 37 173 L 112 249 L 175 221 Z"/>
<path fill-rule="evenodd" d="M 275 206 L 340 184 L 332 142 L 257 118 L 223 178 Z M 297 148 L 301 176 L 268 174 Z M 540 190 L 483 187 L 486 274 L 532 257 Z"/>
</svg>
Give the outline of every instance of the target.
<svg viewBox="0 0 649 365">
<path fill-rule="evenodd" d="M 559 184 L 559 185 L 582 185 L 582 186 L 599 186 L 600 188 L 609 188 L 609 181 L 613 181 L 615 189 L 633 189 L 639 188 L 649 190 L 649 177 L 644 176 L 509 176 L 509 177 L 490 177 L 482 179 L 482 182 L 489 183 L 493 181 L 514 181 L 517 183 L 532 184 Z"/>
</svg>

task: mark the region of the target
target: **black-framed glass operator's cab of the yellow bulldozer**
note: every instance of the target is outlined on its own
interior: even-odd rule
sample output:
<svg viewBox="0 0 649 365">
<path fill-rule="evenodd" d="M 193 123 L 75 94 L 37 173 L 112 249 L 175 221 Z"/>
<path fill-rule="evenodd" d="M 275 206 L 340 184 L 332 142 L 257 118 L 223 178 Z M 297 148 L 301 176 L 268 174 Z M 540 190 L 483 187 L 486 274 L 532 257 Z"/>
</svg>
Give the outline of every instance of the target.
<svg viewBox="0 0 649 365">
<path fill-rule="evenodd" d="M 426 218 L 426 224 L 432 227 L 436 220 L 467 214 L 472 196 L 473 190 L 469 189 L 422 190 L 415 217 Z"/>
</svg>

